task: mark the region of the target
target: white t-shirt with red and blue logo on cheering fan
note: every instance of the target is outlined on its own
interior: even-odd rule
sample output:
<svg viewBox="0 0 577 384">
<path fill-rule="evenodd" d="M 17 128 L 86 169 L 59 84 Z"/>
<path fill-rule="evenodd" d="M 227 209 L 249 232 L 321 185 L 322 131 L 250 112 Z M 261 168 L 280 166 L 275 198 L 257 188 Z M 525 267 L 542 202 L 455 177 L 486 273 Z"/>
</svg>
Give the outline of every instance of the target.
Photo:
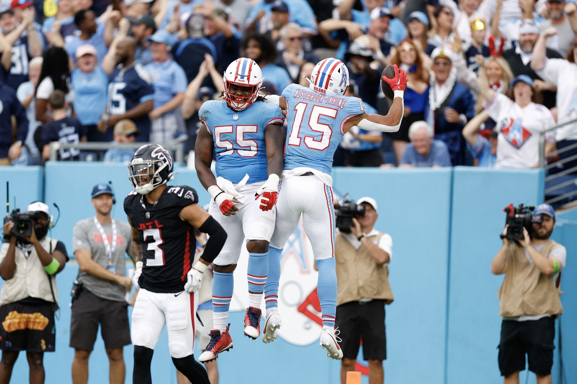
<svg viewBox="0 0 577 384">
<path fill-rule="evenodd" d="M 502 93 L 486 102 L 489 117 L 497 122 L 497 163 L 495 168 L 533 168 L 539 161 L 539 132 L 555 125 L 549 109 L 530 102 L 521 108 Z M 554 133 L 545 140 L 552 142 Z"/>
</svg>

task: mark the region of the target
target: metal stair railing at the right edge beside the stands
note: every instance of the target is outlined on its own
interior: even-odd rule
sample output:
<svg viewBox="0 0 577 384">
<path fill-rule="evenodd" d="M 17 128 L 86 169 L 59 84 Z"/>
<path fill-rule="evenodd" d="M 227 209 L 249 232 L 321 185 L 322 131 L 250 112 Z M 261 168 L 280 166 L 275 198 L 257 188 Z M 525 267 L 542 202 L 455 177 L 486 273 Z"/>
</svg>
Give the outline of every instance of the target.
<svg viewBox="0 0 577 384">
<path fill-rule="evenodd" d="M 546 133 L 553 131 L 553 130 L 556 130 L 557 128 L 564 127 L 564 126 L 567 126 L 569 124 L 575 124 L 575 123 L 577 123 L 577 119 L 565 121 L 564 123 L 557 124 L 556 126 L 548 128 L 547 130 L 545 130 L 539 134 L 539 168 L 544 168 L 546 170 L 545 203 L 554 204 L 554 203 L 558 203 L 559 201 L 563 201 L 565 199 L 568 199 L 569 197 L 572 197 L 574 195 L 577 195 L 577 166 L 574 166 L 574 167 L 568 168 L 568 169 L 564 169 L 564 170 L 557 172 L 557 173 L 554 173 L 554 174 L 548 174 L 549 173 L 548 171 L 551 169 L 557 168 L 560 165 L 565 165 L 571 161 L 577 161 L 577 154 L 571 155 L 571 156 L 566 157 L 566 158 L 561 158 L 561 159 L 554 161 L 550 164 L 547 164 L 546 157 L 545 157 L 545 135 L 546 135 Z M 548 154 L 548 156 L 559 155 L 559 154 L 565 153 L 565 152 L 573 150 L 573 149 L 577 149 L 577 143 L 569 145 L 567 147 L 564 147 L 563 149 L 557 149 L 555 151 L 552 151 L 551 153 Z M 551 183 L 552 181 L 556 180 L 557 178 L 560 178 L 563 176 L 568 176 L 568 180 L 563 181 L 559 184 L 555 184 L 555 185 L 552 185 L 550 187 L 547 187 L 548 183 Z M 557 189 L 569 187 L 571 185 L 575 185 L 575 187 L 576 187 L 573 191 L 569 191 L 567 193 L 563 193 L 562 195 L 547 199 L 547 196 L 551 196 L 552 192 L 557 191 Z"/>
</svg>

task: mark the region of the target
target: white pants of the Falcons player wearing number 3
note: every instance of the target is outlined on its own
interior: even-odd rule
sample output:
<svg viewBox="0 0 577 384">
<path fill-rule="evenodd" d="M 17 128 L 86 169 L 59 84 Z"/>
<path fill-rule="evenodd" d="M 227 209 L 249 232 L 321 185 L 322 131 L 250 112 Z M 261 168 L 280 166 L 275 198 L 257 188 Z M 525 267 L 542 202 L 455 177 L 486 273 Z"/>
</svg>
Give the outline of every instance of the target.
<svg viewBox="0 0 577 384">
<path fill-rule="evenodd" d="M 198 292 L 160 294 L 140 288 L 132 311 L 132 344 L 154 349 L 166 323 L 170 356 L 192 355 L 197 307 Z"/>
</svg>

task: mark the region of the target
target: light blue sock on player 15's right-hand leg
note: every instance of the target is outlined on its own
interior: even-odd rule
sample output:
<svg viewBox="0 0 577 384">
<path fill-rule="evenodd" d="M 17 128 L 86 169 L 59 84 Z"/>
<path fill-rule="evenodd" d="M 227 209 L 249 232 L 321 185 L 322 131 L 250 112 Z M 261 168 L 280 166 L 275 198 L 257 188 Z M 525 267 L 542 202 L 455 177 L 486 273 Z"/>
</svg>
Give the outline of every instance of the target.
<svg viewBox="0 0 577 384">
<path fill-rule="evenodd" d="M 321 303 L 323 325 L 334 328 L 337 292 L 335 258 L 330 257 L 317 260 L 317 268 L 319 268 L 317 294 L 319 295 L 319 301 Z"/>
</svg>

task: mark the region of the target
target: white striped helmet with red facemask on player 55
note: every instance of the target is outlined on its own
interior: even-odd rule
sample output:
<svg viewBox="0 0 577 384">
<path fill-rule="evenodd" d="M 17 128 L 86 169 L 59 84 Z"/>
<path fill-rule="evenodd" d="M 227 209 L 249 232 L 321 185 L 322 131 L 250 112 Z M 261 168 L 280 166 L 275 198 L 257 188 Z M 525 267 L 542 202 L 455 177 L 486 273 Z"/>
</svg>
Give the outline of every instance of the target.
<svg viewBox="0 0 577 384">
<path fill-rule="evenodd" d="M 228 64 L 224 77 L 224 99 L 227 104 L 237 111 L 242 111 L 253 104 L 263 84 L 263 72 L 253 59 L 239 58 Z M 250 96 L 235 96 L 230 93 L 231 85 L 250 87 Z"/>
</svg>

